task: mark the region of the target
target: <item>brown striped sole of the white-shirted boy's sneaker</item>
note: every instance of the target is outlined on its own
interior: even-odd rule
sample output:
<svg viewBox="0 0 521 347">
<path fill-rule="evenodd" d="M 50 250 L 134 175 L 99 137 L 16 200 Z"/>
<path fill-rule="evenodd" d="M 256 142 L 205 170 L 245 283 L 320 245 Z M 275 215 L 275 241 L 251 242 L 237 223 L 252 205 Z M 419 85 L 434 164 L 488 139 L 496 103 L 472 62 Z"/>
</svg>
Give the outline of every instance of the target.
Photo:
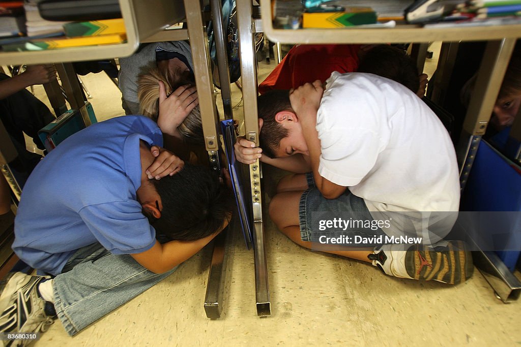
<svg viewBox="0 0 521 347">
<path fill-rule="evenodd" d="M 441 251 L 422 245 L 413 247 L 405 255 L 405 268 L 414 279 L 457 285 L 474 272 L 472 254 L 463 241 L 449 241 Z"/>
</svg>

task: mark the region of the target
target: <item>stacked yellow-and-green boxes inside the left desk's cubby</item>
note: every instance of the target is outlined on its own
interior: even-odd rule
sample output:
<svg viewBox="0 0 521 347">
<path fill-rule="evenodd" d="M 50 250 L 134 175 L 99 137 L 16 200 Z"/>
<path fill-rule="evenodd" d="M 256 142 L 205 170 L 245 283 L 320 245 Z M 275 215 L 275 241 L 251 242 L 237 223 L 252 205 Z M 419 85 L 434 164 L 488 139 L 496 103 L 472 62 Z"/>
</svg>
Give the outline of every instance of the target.
<svg viewBox="0 0 521 347">
<path fill-rule="evenodd" d="M 3 52 L 23 52 L 44 49 L 59 49 L 123 43 L 127 40 L 122 18 L 86 22 L 68 22 L 62 25 L 65 36 L 20 37 L 16 42 L 2 42 Z"/>
</svg>

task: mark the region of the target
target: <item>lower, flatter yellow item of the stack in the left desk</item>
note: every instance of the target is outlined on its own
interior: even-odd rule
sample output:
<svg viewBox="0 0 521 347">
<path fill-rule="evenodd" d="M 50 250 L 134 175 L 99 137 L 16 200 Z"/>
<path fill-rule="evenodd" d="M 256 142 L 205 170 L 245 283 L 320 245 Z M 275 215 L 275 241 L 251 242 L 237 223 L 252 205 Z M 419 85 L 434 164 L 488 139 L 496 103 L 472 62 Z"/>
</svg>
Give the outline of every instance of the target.
<svg viewBox="0 0 521 347">
<path fill-rule="evenodd" d="M 123 43 L 127 40 L 126 34 L 109 34 L 98 36 L 80 36 L 72 38 L 57 38 L 55 40 L 31 40 L 25 43 L 3 45 L 4 52 L 20 52 L 28 50 L 58 49 L 68 47 L 96 46 Z"/>
</svg>

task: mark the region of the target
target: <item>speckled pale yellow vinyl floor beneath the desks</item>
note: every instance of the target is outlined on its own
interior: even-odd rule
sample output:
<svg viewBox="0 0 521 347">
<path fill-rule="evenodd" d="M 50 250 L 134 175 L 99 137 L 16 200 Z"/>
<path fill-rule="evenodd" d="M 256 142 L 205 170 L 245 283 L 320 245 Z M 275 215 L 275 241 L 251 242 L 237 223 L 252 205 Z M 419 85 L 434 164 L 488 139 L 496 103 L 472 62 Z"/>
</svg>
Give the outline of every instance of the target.
<svg viewBox="0 0 521 347">
<path fill-rule="evenodd" d="M 275 66 L 260 63 L 259 81 Z M 430 75 L 430 74 L 429 74 Z M 99 120 L 122 114 L 102 73 L 84 76 Z M 234 94 L 236 95 L 236 94 Z M 233 98 L 232 105 L 240 97 Z M 282 173 L 264 167 L 264 201 Z M 70 338 L 59 322 L 36 346 L 511 346 L 521 344 L 519 302 L 504 304 L 479 272 L 459 286 L 383 275 L 373 266 L 312 252 L 264 213 L 271 316 L 256 316 L 253 252 L 230 237 L 222 318 L 203 308 L 211 250 Z M 517 274 L 519 275 L 519 274 Z"/>
</svg>

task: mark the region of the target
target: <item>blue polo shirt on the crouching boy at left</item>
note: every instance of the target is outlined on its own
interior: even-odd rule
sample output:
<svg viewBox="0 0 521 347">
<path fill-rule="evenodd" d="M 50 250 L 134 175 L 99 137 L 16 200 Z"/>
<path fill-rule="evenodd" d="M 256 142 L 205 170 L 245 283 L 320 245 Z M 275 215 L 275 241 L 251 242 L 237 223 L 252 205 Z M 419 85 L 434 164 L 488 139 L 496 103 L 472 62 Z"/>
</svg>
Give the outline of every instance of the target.
<svg viewBox="0 0 521 347">
<path fill-rule="evenodd" d="M 93 124 L 45 156 L 23 187 L 13 243 L 19 258 L 57 275 L 95 242 L 113 254 L 152 248 L 155 230 L 136 196 L 140 140 L 163 146 L 154 121 L 128 115 Z"/>
</svg>

